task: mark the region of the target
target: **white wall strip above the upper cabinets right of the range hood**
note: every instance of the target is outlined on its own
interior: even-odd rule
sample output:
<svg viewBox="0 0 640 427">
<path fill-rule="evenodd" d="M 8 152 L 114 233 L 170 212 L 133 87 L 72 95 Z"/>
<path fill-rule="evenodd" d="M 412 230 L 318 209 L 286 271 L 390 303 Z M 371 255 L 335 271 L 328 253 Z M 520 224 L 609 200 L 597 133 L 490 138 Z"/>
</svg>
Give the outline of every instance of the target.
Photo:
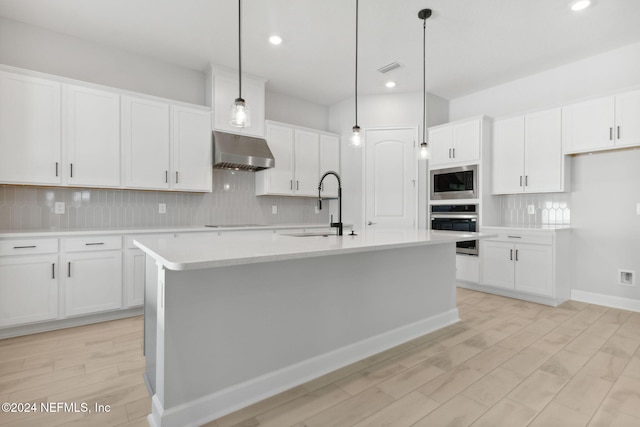
<svg viewBox="0 0 640 427">
<path fill-rule="evenodd" d="M 328 107 L 269 90 L 266 93 L 265 117 L 267 120 L 329 130 Z"/>
</svg>

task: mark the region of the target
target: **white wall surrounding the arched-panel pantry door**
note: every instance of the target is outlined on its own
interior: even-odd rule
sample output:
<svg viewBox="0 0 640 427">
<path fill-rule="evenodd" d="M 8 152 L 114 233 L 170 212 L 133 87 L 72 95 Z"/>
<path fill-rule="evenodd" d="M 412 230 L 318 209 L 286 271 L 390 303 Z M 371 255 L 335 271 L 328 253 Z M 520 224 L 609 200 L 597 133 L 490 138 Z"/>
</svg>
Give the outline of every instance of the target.
<svg viewBox="0 0 640 427">
<path fill-rule="evenodd" d="M 354 120 L 354 99 L 339 102 L 329 109 L 329 128 L 342 135 L 341 171 L 343 180 L 343 222 L 364 225 L 362 211 L 364 187 L 364 150 L 348 147 Z M 429 94 L 427 98 L 427 126 L 448 121 L 449 103 Z M 361 128 L 410 126 L 418 127 L 422 134 L 422 92 L 358 97 L 358 124 Z M 420 141 L 416 141 L 419 143 Z M 365 141 L 366 144 L 366 141 Z M 427 169 L 420 162 L 418 170 L 418 224 L 426 223 Z"/>
</svg>

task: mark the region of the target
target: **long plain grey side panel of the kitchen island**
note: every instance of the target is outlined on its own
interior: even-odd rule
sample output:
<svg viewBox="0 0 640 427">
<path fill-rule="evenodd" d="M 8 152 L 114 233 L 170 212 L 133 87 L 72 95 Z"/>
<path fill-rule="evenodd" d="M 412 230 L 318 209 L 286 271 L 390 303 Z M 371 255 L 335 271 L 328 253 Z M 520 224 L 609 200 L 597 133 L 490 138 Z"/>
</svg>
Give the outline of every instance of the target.
<svg viewBox="0 0 640 427">
<path fill-rule="evenodd" d="M 163 361 L 157 364 L 163 366 L 163 390 L 156 390 L 164 411 L 327 357 L 328 364 L 310 363 L 316 370 L 286 384 L 293 387 L 458 320 L 454 243 L 164 270 L 164 292 L 164 308 L 158 310 L 164 316 L 164 337 L 158 340 Z M 449 320 L 438 324 L 439 316 Z M 429 319 L 438 319 L 436 326 L 425 326 Z M 359 350 L 351 360 L 330 356 L 412 325 L 422 329 Z M 243 396 L 245 402 L 228 401 L 226 408 L 211 407 L 212 414 L 266 397 L 260 393 Z"/>
</svg>

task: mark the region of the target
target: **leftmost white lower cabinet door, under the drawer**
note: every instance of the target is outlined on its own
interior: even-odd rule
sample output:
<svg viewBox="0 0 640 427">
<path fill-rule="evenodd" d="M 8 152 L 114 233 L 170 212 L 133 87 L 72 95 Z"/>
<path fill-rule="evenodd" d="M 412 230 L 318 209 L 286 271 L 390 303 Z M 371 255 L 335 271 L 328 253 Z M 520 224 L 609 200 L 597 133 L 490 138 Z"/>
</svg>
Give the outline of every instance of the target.
<svg viewBox="0 0 640 427">
<path fill-rule="evenodd" d="M 58 256 L 0 258 L 0 327 L 58 317 Z"/>
</svg>

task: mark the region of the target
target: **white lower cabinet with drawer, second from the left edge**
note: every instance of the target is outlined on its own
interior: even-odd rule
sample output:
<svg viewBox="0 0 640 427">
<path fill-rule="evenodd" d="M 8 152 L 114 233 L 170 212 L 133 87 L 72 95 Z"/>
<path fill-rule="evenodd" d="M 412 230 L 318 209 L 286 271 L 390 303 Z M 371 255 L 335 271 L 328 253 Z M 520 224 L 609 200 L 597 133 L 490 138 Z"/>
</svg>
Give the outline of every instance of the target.
<svg viewBox="0 0 640 427">
<path fill-rule="evenodd" d="M 122 308 L 122 238 L 69 238 L 62 247 L 65 315 Z"/>
</svg>

